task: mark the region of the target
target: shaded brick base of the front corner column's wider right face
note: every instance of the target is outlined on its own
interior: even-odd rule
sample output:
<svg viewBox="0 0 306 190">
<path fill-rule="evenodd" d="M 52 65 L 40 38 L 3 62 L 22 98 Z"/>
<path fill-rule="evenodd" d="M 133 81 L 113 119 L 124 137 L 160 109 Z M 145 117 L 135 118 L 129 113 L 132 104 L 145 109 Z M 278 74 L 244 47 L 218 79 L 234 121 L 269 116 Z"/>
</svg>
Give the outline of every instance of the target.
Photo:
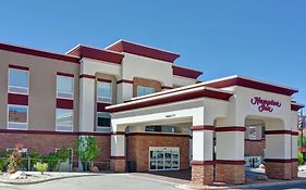
<svg viewBox="0 0 306 190">
<path fill-rule="evenodd" d="M 244 165 L 216 164 L 216 181 L 234 185 L 245 183 Z"/>
</svg>

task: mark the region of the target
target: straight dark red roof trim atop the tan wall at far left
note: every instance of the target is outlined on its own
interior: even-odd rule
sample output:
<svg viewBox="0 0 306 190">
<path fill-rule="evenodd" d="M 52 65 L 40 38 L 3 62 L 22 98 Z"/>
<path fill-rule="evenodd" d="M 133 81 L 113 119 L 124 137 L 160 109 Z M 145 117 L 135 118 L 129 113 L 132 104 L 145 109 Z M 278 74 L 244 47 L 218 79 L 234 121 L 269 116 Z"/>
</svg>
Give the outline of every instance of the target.
<svg viewBox="0 0 306 190">
<path fill-rule="evenodd" d="M 22 54 L 28 54 L 28 55 L 34 55 L 34 56 L 41 56 L 41 58 L 59 60 L 59 61 L 66 61 L 66 62 L 72 62 L 72 63 L 77 63 L 77 64 L 79 63 L 78 56 L 53 53 L 53 52 L 49 52 L 49 51 L 41 51 L 41 50 L 36 50 L 36 49 L 25 48 L 25 47 L 20 47 L 20 46 L 14 46 L 14 45 L 8 45 L 8 43 L 0 43 L 0 50 L 11 51 L 11 52 L 22 53 Z"/>
</svg>

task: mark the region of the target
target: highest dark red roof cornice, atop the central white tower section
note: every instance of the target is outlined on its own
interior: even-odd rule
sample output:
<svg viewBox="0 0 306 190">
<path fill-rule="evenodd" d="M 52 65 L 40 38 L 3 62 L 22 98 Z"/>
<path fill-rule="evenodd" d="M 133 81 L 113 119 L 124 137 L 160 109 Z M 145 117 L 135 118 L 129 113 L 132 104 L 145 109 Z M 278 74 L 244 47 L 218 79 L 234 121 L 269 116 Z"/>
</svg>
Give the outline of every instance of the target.
<svg viewBox="0 0 306 190">
<path fill-rule="evenodd" d="M 117 52 L 137 54 L 140 56 L 146 56 L 146 58 L 171 62 L 171 63 L 173 63 L 178 58 L 180 58 L 180 54 L 173 52 L 147 47 L 144 45 L 134 43 L 126 40 L 119 40 L 113 45 L 107 47 L 106 49 Z"/>
</svg>

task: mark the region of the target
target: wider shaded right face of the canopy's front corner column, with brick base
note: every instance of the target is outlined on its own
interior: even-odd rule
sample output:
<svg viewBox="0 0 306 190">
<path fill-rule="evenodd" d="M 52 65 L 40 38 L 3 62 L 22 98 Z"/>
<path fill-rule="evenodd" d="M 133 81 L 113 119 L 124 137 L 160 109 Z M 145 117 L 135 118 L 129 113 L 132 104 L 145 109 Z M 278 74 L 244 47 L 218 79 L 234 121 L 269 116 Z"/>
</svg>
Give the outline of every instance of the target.
<svg viewBox="0 0 306 190">
<path fill-rule="evenodd" d="M 245 127 L 216 127 L 216 181 L 244 183 Z"/>
</svg>

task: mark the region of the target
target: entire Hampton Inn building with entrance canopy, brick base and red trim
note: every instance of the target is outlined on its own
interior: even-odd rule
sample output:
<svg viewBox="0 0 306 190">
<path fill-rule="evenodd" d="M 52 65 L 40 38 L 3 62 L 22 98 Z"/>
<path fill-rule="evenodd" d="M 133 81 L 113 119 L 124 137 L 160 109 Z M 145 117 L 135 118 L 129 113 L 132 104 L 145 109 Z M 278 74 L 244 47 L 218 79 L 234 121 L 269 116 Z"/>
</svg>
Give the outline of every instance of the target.
<svg viewBox="0 0 306 190">
<path fill-rule="evenodd" d="M 0 43 L 0 151 L 75 149 L 90 135 L 96 163 L 113 172 L 192 168 L 197 183 L 244 183 L 245 156 L 261 143 L 249 141 L 252 127 L 266 134 L 268 177 L 296 178 L 298 90 L 243 76 L 199 81 L 179 58 L 126 40 L 66 53 Z"/>
</svg>

